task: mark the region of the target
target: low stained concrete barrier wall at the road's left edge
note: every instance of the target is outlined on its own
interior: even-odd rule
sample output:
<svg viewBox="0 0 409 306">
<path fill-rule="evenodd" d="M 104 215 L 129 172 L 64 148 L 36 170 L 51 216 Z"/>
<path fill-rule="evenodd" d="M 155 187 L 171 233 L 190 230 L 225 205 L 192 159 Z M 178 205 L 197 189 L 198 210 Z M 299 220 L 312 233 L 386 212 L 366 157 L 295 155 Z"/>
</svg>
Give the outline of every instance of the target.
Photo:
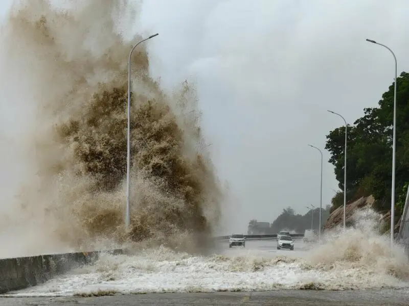
<svg viewBox="0 0 409 306">
<path fill-rule="evenodd" d="M 70 269 L 93 264 L 102 252 L 119 254 L 123 253 L 123 250 L 0 259 L 0 294 L 36 286 Z"/>
</svg>

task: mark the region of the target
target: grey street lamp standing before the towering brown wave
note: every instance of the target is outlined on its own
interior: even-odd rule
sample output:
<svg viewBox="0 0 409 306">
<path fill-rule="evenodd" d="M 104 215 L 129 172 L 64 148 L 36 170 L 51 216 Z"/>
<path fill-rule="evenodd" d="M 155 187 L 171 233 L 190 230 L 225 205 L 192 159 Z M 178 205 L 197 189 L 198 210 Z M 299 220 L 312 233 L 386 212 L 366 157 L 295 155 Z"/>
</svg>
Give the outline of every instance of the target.
<svg viewBox="0 0 409 306">
<path fill-rule="evenodd" d="M 130 223 L 130 216 L 129 216 L 129 192 L 130 192 L 130 185 L 129 185 L 129 174 L 130 174 L 130 163 L 131 163 L 131 55 L 133 50 L 142 42 L 151 39 L 155 36 L 159 35 L 158 33 L 149 36 L 135 44 L 129 53 L 128 59 L 128 131 L 127 131 L 127 158 L 126 158 L 126 218 L 125 224 L 126 227 L 129 227 Z"/>
</svg>

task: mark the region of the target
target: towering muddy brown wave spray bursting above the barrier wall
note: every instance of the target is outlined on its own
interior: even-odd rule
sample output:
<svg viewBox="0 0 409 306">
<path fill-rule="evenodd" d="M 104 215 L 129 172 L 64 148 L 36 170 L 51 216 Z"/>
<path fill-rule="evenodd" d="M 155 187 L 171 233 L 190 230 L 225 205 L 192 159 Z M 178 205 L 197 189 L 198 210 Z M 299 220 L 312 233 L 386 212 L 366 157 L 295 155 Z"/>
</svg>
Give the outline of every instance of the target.
<svg viewBox="0 0 409 306">
<path fill-rule="evenodd" d="M 25 252 L 142 240 L 195 251 L 209 241 L 222 190 L 194 87 L 161 90 L 143 44 L 132 56 L 131 230 L 123 225 L 127 59 L 140 37 L 122 34 L 138 9 L 113 0 L 70 9 L 22 1 L 2 29 L 2 70 L 10 71 L 2 87 L 9 104 L 28 109 L 19 151 L 30 169 L 2 227 L 16 240 L 36 233 L 35 242 L 21 242 Z"/>
</svg>

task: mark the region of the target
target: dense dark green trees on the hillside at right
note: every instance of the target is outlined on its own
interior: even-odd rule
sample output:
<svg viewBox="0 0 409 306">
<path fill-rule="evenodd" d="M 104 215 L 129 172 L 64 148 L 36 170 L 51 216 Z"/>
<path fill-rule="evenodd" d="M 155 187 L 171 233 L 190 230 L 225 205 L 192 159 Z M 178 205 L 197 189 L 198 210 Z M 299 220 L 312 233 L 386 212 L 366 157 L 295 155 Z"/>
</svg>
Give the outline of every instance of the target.
<svg viewBox="0 0 409 306">
<path fill-rule="evenodd" d="M 392 192 L 392 136 L 394 84 L 382 95 L 378 107 L 366 108 L 363 116 L 348 126 L 347 200 L 373 194 L 379 210 L 387 210 Z M 397 80 L 396 194 L 409 182 L 409 73 Z M 339 188 L 344 189 L 345 126 L 327 135 L 325 148 L 335 166 Z M 333 207 L 343 202 L 343 193 L 332 199 Z M 397 213 L 401 210 L 397 210 Z"/>
</svg>

